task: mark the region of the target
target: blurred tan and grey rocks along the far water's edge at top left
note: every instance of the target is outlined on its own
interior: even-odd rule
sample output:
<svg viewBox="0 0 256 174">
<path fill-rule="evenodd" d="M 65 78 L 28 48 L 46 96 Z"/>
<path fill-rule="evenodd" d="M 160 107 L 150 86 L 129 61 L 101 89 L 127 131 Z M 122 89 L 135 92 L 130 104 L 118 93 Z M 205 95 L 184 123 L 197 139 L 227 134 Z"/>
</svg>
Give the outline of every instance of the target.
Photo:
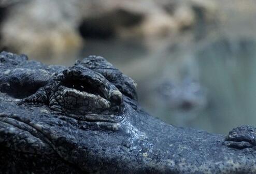
<svg viewBox="0 0 256 174">
<path fill-rule="evenodd" d="M 3 1 L 0 7 L 7 9 L 0 47 L 45 57 L 79 49 L 82 37 L 163 37 L 196 25 L 198 11 L 206 20 L 216 14 L 214 3 L 195 0 L 17 0 Z"/>
</svg>

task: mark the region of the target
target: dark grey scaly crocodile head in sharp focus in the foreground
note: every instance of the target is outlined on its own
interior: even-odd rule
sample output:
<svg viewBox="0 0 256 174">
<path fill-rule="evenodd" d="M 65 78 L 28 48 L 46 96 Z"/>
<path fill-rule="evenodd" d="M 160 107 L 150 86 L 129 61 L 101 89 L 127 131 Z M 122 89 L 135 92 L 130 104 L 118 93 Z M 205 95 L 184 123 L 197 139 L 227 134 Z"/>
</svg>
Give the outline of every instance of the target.
<svg viewBox="0 0 256 174">
<path fill-rule="evenodd" d="M 168 125 L 101 56 L 74 66 L 0 53 L 1 173 L 256 173 L 256 128 Z"/>
</svg>

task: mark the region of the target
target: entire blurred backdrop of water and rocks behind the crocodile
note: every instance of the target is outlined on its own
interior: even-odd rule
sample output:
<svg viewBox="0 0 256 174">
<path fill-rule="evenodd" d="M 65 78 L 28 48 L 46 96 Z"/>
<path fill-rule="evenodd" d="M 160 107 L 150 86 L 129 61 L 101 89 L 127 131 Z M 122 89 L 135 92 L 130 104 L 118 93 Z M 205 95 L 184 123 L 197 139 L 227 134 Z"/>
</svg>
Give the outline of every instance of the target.
<svg viewBox="0 0 256 174">
<path fill-rule="evenodd" d="M 176 126 L 256 126 L 256 0 L 0 0 L 0 50 L 71 66 L 101 55 Z"/>
</svg>

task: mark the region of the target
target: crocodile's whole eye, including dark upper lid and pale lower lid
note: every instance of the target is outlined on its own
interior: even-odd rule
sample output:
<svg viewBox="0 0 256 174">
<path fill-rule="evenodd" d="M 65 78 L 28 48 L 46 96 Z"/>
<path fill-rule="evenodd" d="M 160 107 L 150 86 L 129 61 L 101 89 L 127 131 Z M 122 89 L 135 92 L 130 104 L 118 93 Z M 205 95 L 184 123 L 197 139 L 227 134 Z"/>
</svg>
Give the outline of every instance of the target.
<svg viewBox="0 0 256 174">
<path fill-rule="evenodd" d="M 102 75 L 87 68 L 72 67 L 60 76 L 49 106 L 76 115 L 108 113 L 122 108 L 122 94 Z"/>
</svg>

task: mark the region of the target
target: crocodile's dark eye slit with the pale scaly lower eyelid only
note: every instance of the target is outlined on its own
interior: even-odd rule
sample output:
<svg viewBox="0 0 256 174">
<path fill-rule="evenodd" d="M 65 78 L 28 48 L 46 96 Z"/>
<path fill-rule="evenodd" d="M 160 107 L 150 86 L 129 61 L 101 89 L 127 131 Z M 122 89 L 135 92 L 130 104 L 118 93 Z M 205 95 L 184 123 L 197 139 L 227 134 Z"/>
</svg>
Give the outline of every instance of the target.
<svg viewBox="0 0 256 174">
<path fill-rule="evenodd" d="M 74 79 L 62 82 L 49 104 L 52 109 L 62 107 L 72 113 L 93 113 L 110 107 L 110 102 L 96 86 Z"/>
</svg>

